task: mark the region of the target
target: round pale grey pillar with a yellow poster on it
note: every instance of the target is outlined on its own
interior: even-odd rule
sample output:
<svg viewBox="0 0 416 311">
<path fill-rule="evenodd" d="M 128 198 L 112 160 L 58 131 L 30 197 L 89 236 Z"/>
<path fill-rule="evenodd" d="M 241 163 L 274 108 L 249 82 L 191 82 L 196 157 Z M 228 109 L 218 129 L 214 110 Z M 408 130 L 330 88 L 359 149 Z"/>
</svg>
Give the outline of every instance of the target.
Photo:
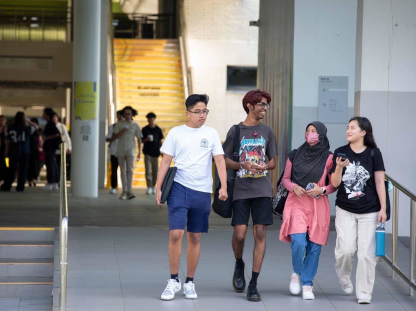
<svg viewBox="0 0 416 311">
<path fill-rule="evenodd" d="M 72 193 L 97 197 L 101 0 L 73 5 Z"/>
</svg>

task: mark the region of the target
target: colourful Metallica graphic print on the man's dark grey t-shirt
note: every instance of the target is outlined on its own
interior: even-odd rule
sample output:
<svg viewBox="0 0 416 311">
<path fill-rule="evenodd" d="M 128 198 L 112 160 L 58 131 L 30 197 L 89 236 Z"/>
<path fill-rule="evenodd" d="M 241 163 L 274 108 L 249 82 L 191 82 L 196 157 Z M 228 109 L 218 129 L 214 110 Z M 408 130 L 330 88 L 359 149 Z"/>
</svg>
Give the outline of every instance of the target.
<svg viewBox="0 0 416 311">
<path fill-rule="evenodd" d="M 260 138 L 243 138 L 240 143 L 240 163 L 250 161 L 252 164 L 259 164 L 259 162 L 264 162 L 266 160 L 265 153 L 266 140 L 263 136 Z M 263 177 L 266 176 L 267 170 L 264 172 L 252 173 L 247 169 L 240 168 L 237 172 L 237 177 L 246 178 L 246 177 Z"/>
</svg>

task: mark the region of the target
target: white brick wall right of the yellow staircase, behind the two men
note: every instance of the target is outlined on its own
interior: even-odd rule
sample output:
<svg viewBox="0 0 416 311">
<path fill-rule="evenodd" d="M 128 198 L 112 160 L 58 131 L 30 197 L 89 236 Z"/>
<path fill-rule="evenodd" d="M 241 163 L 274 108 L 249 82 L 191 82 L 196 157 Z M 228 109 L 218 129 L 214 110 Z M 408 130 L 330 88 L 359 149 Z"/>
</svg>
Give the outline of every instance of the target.
<svg viewBox="0 0 416 311">
<path fill-rule="evenodd" d="M 257 66 L 260 0 L 184 0 L 188 66 L 193 93 L 210 96 L 206 124 L 221 139 L 246 117 L 242 99 L 247 91 L 227 91 L 227 65 Z"/>
</svg>

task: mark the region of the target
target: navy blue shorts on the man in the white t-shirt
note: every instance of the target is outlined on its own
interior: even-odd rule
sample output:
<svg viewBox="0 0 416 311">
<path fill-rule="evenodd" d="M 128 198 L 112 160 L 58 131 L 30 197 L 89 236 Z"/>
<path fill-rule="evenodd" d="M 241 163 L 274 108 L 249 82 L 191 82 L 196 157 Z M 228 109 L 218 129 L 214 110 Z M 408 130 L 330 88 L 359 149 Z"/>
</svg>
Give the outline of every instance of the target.
<svg viewBox="0 0 416 311">
<path fill-rule="evenodd" d="M 173 181 L 166 201 L 169 230 L 184 230 L 187 224 L 188 232 L 208 232 L 211 193 L 192 190 Z"/>
</svg>

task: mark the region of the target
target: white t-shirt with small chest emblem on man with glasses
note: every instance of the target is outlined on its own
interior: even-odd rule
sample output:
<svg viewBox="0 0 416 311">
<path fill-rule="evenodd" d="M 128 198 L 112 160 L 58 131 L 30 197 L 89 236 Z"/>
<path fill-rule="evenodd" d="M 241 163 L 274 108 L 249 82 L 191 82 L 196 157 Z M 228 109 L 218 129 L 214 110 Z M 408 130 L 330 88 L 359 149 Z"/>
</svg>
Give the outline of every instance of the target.
<svg viewBox="0 0 416 311">
<path fill-rule="evenodd" d="M 224 154 L 217 130 L 205 125 L 175 126 L 160 151 L 174 158 L 177 167 L 174 181 L 196 191 L 213 192 L 213 156 Z"/>
</svg>

